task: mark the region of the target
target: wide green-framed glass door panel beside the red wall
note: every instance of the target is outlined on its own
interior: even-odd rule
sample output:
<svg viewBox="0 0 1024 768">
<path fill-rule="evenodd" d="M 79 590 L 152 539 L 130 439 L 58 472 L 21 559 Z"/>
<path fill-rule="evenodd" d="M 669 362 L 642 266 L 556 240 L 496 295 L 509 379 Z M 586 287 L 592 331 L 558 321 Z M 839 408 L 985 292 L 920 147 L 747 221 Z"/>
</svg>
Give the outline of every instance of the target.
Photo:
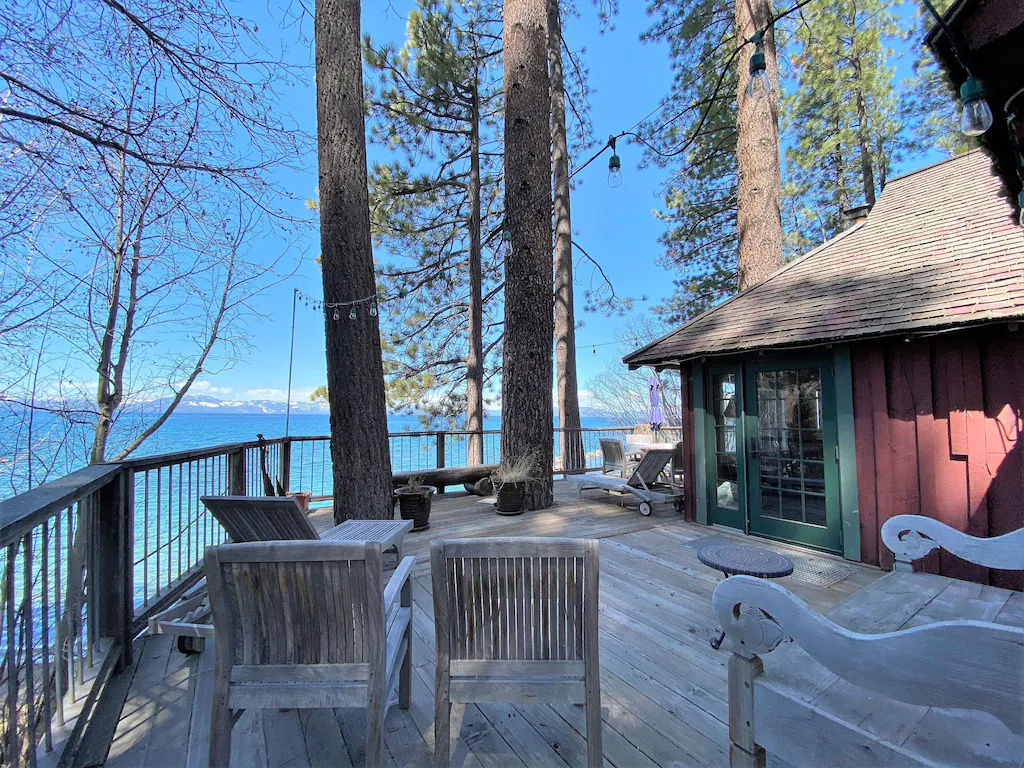
<svg viewBox="0 0 1024 768">
<path fill-rule="evenodd" d="M 759 361 L 744 369 L 742 453 L 750 531 L 841 552 L 829 360 Z"/>
</svg>

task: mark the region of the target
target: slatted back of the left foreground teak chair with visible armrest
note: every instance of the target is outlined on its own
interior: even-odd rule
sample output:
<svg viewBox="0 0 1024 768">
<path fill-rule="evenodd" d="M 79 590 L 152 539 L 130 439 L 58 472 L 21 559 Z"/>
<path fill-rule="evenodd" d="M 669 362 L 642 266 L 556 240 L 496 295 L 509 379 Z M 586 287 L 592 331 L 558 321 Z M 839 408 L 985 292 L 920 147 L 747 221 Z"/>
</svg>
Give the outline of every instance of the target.
<svg viewBox="0 0 1024 768">
<path fill-rule="evenodd" d="M 206 573 L 234 665 L 361 665 L 383 647 L 379 544 L 225 544 L 207 549 Z"/>
</svg>

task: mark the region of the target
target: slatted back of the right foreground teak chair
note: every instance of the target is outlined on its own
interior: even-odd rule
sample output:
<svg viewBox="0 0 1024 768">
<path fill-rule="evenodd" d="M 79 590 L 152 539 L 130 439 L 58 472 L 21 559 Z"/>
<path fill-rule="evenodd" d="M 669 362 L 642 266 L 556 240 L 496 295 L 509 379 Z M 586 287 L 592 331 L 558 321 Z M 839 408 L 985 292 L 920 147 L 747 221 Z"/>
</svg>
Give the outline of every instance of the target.
<svg viewBox="0 0 1024 768">
<path fill-rule="evenodd" d="M 441 541 L 431 558 L 443 579 L 434 587 L 438 640 L 452 660 L 584 660 L 597 643 L 586 621 L 598 609 L 596 541 Z"/>
</svg>

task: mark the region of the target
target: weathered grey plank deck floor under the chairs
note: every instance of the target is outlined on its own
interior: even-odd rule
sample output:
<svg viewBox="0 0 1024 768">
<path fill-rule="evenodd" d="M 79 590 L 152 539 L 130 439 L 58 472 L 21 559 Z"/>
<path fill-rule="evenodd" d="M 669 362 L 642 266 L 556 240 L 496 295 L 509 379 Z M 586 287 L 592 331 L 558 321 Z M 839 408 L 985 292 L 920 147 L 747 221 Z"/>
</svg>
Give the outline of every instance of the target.
<svg viewBox="0 0 1024 768">
<path fill-rule="evenodd" d="M 578 501 L 556 483 L 559 503 L 521 517 L 499 517 L 462 494 L 437 497 L 430 529 L 406 539 L 414 573 L 413 702 L 394 707 L 385 726 L 385 762 L 428 766 L 433 749 L 434 632 L 428 548 L 432 538 L 568 536 L 601 541 L 601 693 L 605 764 L 723 766 L 728 763 L 726 663 L 709 640 L 717 634 L 711 595 L 721 575 L 685 546 L 720 532 L 682 522 L 671 506 L 641 517 L 600 495 Z M 313 516 L 317 528 L 329 512 Z M 760 546 L 765 543 L 758 542 Z M 829 588 L 780 580 L 825 611 L 881 571 L 861 567 Z M 166 636 L 139 642 L 130 686 L 106 765 L 205 766 L 213 653 L 184 656 Z M 392 695 L 396 695 L 392 692 Z M 114 701 L 110 706 L 121 705 Z M 113 718 L 112 718 L 113 720 Z M 233 766 L 359 766 L 365 714 L 358 710 L 246 712 L 234 727 Z M 585 765 L 584 711 L 571 705 L 457 705 L 453 765 Z"/>
</svg>

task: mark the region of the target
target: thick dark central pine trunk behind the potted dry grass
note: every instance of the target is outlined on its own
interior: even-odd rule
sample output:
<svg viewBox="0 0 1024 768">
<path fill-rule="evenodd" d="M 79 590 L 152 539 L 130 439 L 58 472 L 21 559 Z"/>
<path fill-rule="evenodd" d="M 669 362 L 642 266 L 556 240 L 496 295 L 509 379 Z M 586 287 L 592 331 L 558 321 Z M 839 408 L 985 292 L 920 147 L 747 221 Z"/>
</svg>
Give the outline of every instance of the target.
<svg viewBox="0 0 1024 768">
<path fill-rule="evenodd" d="M 502 460 L 526 454 L 539 481 L 526 509 L 552 503 L 551 134 L 547 0 L 505 0 L 505 259 Z"/>
</svg>

